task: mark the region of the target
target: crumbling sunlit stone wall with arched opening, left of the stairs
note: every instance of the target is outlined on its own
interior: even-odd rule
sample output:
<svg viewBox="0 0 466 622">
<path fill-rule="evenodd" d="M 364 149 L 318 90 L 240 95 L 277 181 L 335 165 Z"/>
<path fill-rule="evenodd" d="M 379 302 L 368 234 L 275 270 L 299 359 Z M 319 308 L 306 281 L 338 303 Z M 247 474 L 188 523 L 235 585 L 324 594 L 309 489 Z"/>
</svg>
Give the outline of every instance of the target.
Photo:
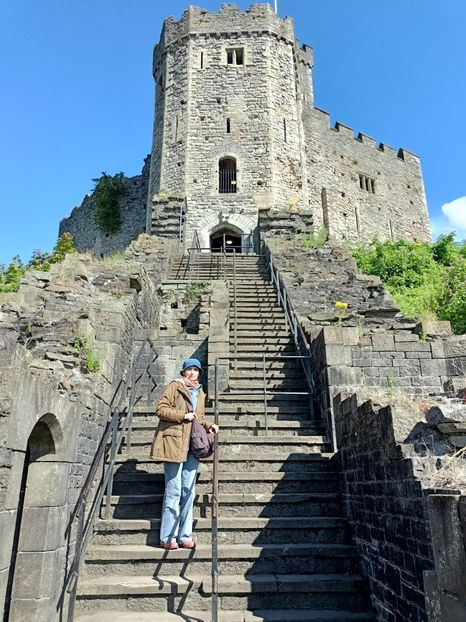
<svg viewBox="0 0 466 622">
<path fill-rule="evenodd" d="M 66 617 L 71 517 L 133 346 L 158 324 L 171 247 L 146 237 L 116 263 L 69 255 L 0 297 L 0 603 L 14 576 L 11 620 Z"/>
</svg>

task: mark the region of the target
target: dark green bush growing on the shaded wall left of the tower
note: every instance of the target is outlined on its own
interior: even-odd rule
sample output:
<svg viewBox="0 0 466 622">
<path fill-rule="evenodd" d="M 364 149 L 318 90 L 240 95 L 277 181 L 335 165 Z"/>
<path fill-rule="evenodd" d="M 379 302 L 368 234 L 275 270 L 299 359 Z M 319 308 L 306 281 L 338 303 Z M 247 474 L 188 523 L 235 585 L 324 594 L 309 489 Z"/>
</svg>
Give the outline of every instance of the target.
<svg viewBox="0 0 466 622">
<path fill-rule="evenodd" d="M 121 227 L 120 197 L 123 193 L 123 173 L 101 176 L 92 181 L 95 183 L 94 201 L 95 221 L 102 233 L 118 233 Z"/>
</svg>

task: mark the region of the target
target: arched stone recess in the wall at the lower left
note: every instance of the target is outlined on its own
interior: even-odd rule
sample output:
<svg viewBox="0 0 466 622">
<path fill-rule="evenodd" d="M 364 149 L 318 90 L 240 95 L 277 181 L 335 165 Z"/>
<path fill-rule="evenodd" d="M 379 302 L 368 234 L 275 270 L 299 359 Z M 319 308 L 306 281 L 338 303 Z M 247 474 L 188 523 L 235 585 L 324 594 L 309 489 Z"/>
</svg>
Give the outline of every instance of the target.
<svg viewBox="0 0 466 622">
<path fill-rule="evenodd" d="M 62 570 L 69 463 L 63 430 L 47 413 L 27 439 L 18 491 L 5 620 L 53 620 Z"/>
</svg>

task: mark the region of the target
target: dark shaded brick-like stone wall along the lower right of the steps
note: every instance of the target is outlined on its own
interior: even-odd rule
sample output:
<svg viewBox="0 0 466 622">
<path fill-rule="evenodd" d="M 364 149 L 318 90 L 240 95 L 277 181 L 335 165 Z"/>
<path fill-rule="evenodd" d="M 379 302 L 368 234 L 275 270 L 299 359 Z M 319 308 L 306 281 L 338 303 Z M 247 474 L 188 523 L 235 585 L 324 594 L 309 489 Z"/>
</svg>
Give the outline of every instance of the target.
<svg viewBox="0 0 466 622">
<path fill-rule="evenodd" d="M 334 410 L 343 498 L 377 619 L 426 621 L 423 573 L 434 556 L 423 478 L 435 457 L 403 445 L 412 412 L 358 405 L 356 396 Z"/>
</svg>

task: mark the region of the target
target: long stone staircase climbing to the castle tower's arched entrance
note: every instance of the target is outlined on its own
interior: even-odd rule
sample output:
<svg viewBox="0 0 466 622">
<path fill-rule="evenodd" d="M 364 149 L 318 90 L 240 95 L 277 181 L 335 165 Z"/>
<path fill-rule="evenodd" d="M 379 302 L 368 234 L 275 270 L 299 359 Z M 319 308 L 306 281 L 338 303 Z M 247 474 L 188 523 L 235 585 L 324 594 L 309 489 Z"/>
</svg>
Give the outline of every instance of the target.
<svg viewBox="0 0 466 622">
<path fill-rule="evenodd" d="M 218 278 L 219 261 L 201 258 L 196 279 Z M 181 259 L 171 278 L 187 271 Z M 235 257 L 235 271 L 238 354 L 271 357 L 268 435 L 263 361 L 232 361 L 219 415 L 219 620 L 372 622 L 321 421 L 310 414 L 299 361 L 281 358 L 295 355 L 283 310 L 261 257 Z M 155 426 L 138 407 L 131 455 L 118 457 L 111 518 L 98 521 L 81 574 L 79 622 L 210 620 L 212 465 L 199 466 L 196 549 L 158 548 L 163 469 L 148 459 Z"/>
</svg>

